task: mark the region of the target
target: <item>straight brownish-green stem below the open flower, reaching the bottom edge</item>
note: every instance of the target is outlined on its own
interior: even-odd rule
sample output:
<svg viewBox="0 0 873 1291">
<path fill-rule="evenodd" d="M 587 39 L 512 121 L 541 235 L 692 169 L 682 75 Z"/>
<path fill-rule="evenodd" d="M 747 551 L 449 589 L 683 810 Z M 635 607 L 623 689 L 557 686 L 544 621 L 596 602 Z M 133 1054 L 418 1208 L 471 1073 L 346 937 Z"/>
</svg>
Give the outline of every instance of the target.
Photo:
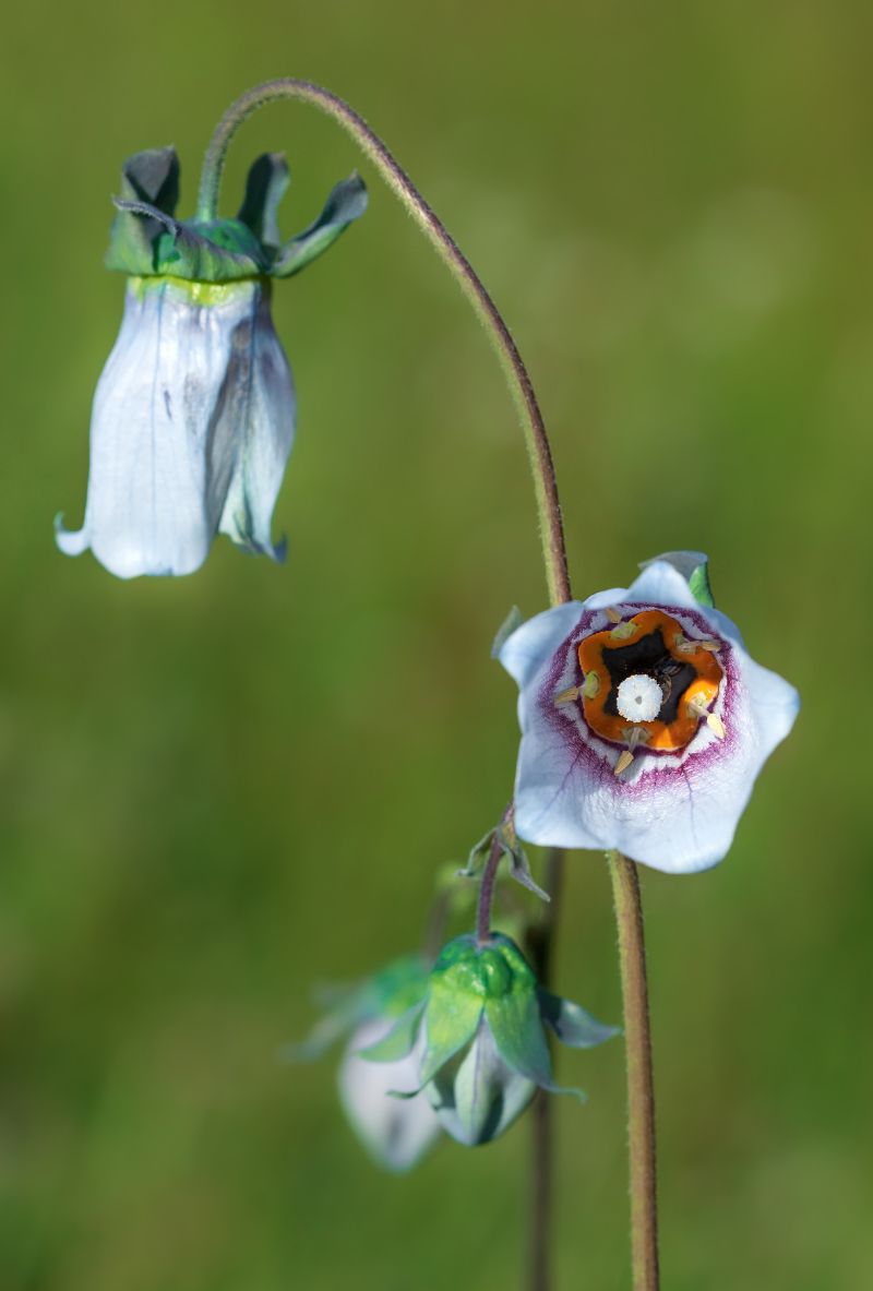
<svg viewBox="0 0 873 1291">
<path fill-rule="evenodd" d="M 621 852 L 607 852 L 621 961 L 628 1059 L 628 1140 L 630 1149 L 630 1241 L 634 1291 L 657 1291 L 657 1195 L 655 1176 L 655 1087 L 648 1025 L 643 908 L 637 866 Z"/>
</svg>

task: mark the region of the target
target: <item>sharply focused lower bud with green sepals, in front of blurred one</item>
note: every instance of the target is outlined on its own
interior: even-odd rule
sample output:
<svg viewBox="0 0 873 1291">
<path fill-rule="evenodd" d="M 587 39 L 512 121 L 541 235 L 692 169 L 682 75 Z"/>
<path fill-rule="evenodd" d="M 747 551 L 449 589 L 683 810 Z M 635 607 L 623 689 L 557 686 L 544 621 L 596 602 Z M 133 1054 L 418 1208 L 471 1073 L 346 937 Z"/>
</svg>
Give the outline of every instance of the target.
<svg viewBox="0 0 873 1291">
<path fill-rule="evenodd" d="M 527 1108 L 540 1086 L 555 1093 L 544 1026 L 564 1044 L 590 1048 L 617 1034 L 579 1004 L 537 984 L 510 937 L 479 944 L 464 935 L 443 948 L 427 995 L 384 1041 L 364 1050 L 373 1064 L 417 1055 L 420 1084 L 442 1127 L 466 1146 L 491 1143 Z M 406 1101 L 420 1097 L 395 1087 Z M 581 1097 L 581 1095 L 580 1095 Z"/>
</svg>

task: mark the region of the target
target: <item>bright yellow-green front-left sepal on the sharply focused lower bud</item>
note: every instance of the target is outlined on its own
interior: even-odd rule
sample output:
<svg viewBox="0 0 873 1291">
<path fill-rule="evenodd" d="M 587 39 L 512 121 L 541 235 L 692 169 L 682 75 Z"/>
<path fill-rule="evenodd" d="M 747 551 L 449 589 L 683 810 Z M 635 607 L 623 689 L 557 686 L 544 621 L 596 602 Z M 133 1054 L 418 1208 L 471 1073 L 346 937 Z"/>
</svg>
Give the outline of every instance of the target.
<svg viewBox="0 0 873 1291">
<path fill-rule="evenodd" d="M 443 946 L 430 975 L 425 1028 L 427 1047 L 421 1084 L 475 1034 L 484 1007 L 486 984 L 474 936 L 465 933 Z"/>
</svg>

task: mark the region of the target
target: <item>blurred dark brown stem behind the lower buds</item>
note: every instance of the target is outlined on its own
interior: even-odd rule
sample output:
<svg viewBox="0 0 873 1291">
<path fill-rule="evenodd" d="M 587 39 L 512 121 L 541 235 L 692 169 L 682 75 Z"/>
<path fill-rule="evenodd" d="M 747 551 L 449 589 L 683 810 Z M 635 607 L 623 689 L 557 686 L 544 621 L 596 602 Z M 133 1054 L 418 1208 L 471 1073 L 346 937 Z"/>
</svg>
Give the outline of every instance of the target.
<svg viewBox="0 0 873 1291">
<path fill-rule="evenodd" d="M 560 909 L 564 879 L 564 853 L 559 847 L 546 852 L 542 887 L 551 900 L 544 906 L 540 919 L 528 932 L 527 945 L 531 967 L 544 986 L 551 984 L 551 954 L 555 923 Z M 529 1291 L 550 1291 L 551 1287 L 551 1201 L 554 1179 L 554 1144 L 551 1136 L 551 1095 L 537 1090 L 531 1108 L 532 1163 L 531 1214 L 528 1246 Z"/>
</svg>

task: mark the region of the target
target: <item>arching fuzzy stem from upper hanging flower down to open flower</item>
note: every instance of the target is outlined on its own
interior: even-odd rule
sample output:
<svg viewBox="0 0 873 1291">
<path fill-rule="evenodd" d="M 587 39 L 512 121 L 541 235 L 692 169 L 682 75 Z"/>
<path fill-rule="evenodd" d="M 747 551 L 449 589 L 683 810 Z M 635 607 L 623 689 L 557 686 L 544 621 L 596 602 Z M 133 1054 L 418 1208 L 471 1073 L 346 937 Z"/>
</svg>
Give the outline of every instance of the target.
<svg viewBox="0 0 873 1291">
<path fill-rule="evenodd" d="M 418 194 L 412 181 L 396 164 L 382 141 L 373 134 L 363 117 L 358 116 L 336 94 L 331 94 L 329 90 L 322 89 L 319 85 L 313 85 L 309 81 L 275 80 L 257 85 L 247 94 L 243 94 L 225 112 L 212 137 L 212 143 L 203 164 L 198 216 L 201 219 L 214 219 L 218 214 L 218 190 L 221 187 L 225 155 L 239 127 L 258 107 L 280 98 L 293 98 L 303 103 L 311 103 L 314 107 L 319 107 L 323 112 L 327 112 L 328 116 L 332 116 L 334 121 L 338 121 L 369 158 L 389 188 L 400 199 L 473 305 L 479 321 L 483 324 L 497 352 L 515 408 L 522 420 L 531 470 L 533 471 L 533 488 L 540 516 L 540 536 L 542 540 L 546 582 L 549 585 L 549 600 L 553 605 L 563 604 L 571 598 L 558 487 L 551 463 L 551 451 L 531 378 L 527 374 L 527 369 L 522 363 L 522 358 L 509 334 L 506 324 L 471 266 L 427 203 Z"/>
</svg>

